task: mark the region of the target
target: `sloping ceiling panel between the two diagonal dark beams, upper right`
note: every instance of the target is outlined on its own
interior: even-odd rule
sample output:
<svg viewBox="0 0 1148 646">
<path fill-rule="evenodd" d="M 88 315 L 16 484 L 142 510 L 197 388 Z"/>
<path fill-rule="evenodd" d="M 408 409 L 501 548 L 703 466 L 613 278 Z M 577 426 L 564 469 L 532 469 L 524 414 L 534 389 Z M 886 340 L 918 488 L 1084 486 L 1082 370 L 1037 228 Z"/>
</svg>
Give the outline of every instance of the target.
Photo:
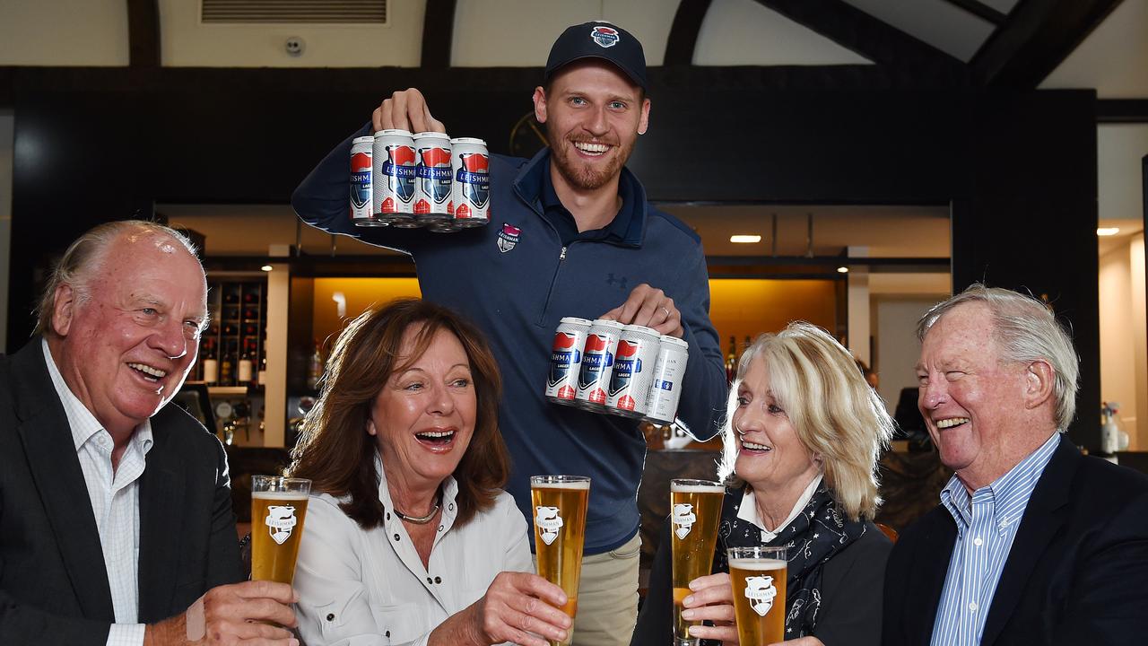
<svg viewBox="0 0 1148 646">
<path fill-rule="evenodd" d="M 964 62 L 993 31 L 992 23 L 946 0 L 845 1 Z"/>
</svg>

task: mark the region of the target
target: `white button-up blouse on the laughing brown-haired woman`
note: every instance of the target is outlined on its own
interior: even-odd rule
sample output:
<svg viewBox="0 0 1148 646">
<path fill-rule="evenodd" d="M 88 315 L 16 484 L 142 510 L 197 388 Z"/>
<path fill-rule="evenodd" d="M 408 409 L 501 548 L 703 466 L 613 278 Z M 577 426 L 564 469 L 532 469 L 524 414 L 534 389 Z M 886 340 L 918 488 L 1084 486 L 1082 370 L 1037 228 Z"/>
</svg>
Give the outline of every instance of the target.
<svg viewBox="0 0 1148 646">
<path fill-rule="evenodd" d="M 432 630 L 486 594 L 495 575 L 534 571 L 526 518 L 509 493 L 455 528 L 458 484 L 448 477 L 424 568 L 381 480 L 383 523 L 367 531 L 339 508 L 340 500 L 310 498 L 294 584 L 308 646 L 425 646 Z"/>
</svg>

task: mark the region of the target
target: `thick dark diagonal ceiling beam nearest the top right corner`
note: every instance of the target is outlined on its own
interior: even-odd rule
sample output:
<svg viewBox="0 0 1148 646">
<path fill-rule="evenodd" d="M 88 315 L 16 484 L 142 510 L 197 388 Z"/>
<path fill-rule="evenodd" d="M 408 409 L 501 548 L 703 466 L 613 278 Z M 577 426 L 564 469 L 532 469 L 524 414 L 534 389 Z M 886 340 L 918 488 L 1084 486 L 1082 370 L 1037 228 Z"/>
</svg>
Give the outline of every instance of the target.
<svg viewBox="0 0 1148 646">
<path fill-rule="evenodd" d="M 969 62 L 982 85 L 1040 85 L 1122 0 L 1024 0 Z"/>
</svg>

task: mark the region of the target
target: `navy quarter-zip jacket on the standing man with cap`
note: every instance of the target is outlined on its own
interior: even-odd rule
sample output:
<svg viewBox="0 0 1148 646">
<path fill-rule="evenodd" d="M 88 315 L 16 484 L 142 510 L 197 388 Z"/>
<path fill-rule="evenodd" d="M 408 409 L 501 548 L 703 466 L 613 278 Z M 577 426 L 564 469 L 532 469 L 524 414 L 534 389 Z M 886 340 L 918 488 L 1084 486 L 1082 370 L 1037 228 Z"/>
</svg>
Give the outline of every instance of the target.
<svg viewBox="0 0 1148 646">
<path fill-rule="evenodd" d="M 490 224 L 458 233 L 357 228 L 349 217 L 348 138 L 303 180 L 292 205 L 307 223 L 331 233 L 409 253 L 427 300 L 459 312 L 481 328 L 502 368 L 499 425 L 512 456 L 506 490 L 532 518 L 529 477 L 590 476 L 585 552 L 629 540 L 638 528 L 637 490 L 645 439 L 637 422 L 585 413 L 545 400 L 543 391 L 559 318 L 596 318 L 647 283 L 682 312 L 690 357 L 681 417 L 698 438 L 716 432 L 726 405 L 726 375 L 709 322 L 709 283 L 700 239 L 651 207 L 628 171 L 638 199 L 622 206 L 630 225 L 621 243 L 577 240 L 564 247 L 542 215 L 544 149 L 532 160 L 491 155 Z"/>
</svg>

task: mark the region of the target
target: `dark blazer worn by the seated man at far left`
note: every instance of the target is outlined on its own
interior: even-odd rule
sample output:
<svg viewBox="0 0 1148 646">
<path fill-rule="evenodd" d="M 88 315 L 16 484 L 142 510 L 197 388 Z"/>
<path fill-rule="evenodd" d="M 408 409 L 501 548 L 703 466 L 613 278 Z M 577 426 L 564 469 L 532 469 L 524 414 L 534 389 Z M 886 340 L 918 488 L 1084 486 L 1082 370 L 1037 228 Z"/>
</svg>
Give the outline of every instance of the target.
<svg viewBox="0 0 1148 646">
<path fill-rule="evenodd" d="M 176 406 L 152 417 L 140 476 L 139 621 L 240 580 L 227 459 Z M 103 645 L 103 552 L 63 405 L 36 337 L 0 355 L 0 644 Z"/>
</svg>

